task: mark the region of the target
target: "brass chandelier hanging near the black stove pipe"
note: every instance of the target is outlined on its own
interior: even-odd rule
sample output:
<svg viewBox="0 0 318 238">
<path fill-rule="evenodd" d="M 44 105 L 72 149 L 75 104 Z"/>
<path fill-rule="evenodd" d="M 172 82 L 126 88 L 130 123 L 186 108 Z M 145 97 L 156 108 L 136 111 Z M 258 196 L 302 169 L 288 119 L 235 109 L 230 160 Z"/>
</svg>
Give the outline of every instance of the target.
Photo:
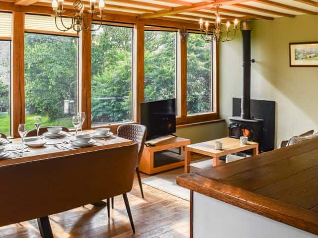
<svg viewBox="0 0 318 238">
<path fill-rule="evenodd" d="M 200 33 L 205 41 L 209 42 L 226 42 L 232 41 L 236 37 L 238 30 L 238 19 L 234 20 L 233 31 L 230 31 L 231 23 L 230 21 L 226 24 L 226 29 L 222 27 L 221 17 L 219 13 L 219 8 L 221 5 L 216 5 L 217 11 L 215 13 L 216 19 L 215 24 L 212 28 L 209 28 L 209 22 L 205 22 L 205 29 L 203 29 L 203 20 L 202 18 L 199 21 L 200 24 Z M 233 32 L 233 33 L 232 33 Z"/>
</svg>

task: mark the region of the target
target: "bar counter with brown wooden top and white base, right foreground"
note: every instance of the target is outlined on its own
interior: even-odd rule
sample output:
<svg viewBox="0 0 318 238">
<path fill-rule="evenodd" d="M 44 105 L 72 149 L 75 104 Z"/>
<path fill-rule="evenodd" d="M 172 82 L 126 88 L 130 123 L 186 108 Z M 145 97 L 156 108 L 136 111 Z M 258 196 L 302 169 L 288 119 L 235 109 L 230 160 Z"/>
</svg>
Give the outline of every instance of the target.
<svg viewBox="0 0 318 238">
<path fill-rule="evenodd" d="M 190 233 L 318 238 L 318 139 L 186 174 Z"/>
</svg>

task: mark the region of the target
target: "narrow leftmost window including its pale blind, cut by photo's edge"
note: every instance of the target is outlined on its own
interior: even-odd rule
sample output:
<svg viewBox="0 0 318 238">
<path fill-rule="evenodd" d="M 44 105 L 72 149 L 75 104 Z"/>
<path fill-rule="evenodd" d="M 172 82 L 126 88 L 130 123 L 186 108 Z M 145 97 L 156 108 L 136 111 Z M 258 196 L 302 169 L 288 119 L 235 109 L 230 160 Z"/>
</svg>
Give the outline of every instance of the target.
<svg viewBox="0 0 318 238">
<path fill-rule="evenodd" d="M 0 12 L 0 132 L 10 135 L 11 13 Z"/>
</svg>

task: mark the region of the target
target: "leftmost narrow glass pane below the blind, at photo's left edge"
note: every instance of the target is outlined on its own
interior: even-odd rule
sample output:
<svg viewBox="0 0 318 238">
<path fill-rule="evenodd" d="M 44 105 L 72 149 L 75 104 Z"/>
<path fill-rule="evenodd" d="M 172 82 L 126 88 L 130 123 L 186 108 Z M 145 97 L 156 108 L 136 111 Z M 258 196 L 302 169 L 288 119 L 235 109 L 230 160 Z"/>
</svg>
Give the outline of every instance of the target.
<svg viewBox="0 0 318 238">
<path fill-rule="evenodd" d="M 10 135 L 10 41 L 0 41 L 0 132 Z"/>
</svg>

